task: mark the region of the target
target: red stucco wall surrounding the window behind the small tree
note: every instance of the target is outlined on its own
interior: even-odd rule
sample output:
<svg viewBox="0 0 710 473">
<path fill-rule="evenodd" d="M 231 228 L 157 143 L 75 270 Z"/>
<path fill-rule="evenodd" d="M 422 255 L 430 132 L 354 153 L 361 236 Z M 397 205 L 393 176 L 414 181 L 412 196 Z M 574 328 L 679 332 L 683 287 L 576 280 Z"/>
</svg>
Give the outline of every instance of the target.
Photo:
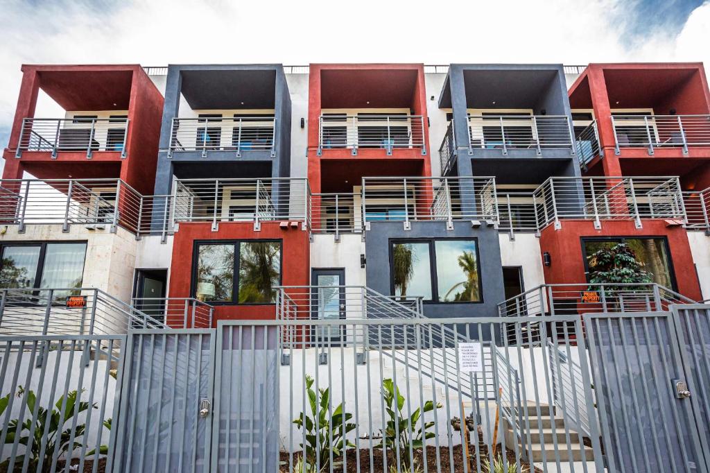
<svg viewBox="0 0 710 473">
<path fill-rule="evenodd" d="M 645 219 L 642 223 L 643 228 L 636 229 L 631 220 L 603 221 L 601 229 L 596 230 L 591 220 L 564 220 L 562 229 L 555 230 L 552 225 L 543 229 L 540 251 L 547 251 L 552 259 L 552 264 L 545 266 L 545 282 L 586 283 L 582 237 L 666 237 L 678 292 L 702 300 L 686 230 L 680 225 L 667 226 L 665 220 Z"/>
</svg>

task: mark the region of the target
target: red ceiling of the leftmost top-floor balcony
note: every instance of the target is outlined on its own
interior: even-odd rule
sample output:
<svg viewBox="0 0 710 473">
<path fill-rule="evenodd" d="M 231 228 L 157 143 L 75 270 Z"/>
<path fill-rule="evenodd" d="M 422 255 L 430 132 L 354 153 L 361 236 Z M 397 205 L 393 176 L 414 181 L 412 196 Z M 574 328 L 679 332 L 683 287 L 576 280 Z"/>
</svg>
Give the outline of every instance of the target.
<svg viewBox="0 0 710 473">
<path fill-rule="evenodd" d="M 65 110 L 127 110 L 132 70 L 41 70 L 40 87 Z"/>
</svg>

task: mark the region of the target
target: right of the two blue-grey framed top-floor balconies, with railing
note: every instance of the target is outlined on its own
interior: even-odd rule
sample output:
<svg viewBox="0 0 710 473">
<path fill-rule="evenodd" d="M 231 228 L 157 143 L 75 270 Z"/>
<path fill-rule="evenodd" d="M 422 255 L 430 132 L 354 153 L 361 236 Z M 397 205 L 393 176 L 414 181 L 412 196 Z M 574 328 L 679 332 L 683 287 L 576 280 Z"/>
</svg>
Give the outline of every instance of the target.
<svg viewBox="0 0 710 473">
<path fill-rule="evenodd" d="M 470 175 L 471 158 L 577 153 L 562 65 L 454 64 L 439 109 L 449 118 L 439 146 L 443 174 Z"/>
</svg>

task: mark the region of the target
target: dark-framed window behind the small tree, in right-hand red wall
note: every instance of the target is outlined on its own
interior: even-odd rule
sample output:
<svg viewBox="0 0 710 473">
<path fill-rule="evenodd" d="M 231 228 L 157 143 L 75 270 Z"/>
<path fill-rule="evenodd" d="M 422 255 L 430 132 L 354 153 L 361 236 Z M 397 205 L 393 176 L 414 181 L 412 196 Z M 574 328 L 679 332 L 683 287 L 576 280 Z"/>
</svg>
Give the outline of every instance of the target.
<svg viewBox="0 0 710 473">
<path fill-rule="evenodd" d="M 670 248 L 666 237 L 592 237 L 581 239 L 582 255 L 584 256 L 584 271 L 589 280 L 589 273 L 594 271 L 590 266 L 591 255 L 603 248 L 626 243 L 636 255 L 643 271 L 650 273 L 652 281 L 672 290 L 677 290 Z"/>
</svg>

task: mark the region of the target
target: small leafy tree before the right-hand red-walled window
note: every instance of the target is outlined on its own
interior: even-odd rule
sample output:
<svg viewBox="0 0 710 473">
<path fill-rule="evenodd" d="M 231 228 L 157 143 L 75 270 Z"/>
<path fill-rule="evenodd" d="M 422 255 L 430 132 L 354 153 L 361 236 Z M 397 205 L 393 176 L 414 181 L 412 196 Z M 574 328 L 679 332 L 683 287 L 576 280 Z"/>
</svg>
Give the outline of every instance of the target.
<svg viewBox="0 0 710 473">
<path fill-rule="evenodd" d="M 636 254 L 625 243 L 603 248 L 589 256 L 589 282 L 608 284 L 614 293 L 624 290 L 624 283 L 651 283 L 652 273 L 643 271 Z M 615 286 L 619 284 L 619 286 Z"/>
</svg>

